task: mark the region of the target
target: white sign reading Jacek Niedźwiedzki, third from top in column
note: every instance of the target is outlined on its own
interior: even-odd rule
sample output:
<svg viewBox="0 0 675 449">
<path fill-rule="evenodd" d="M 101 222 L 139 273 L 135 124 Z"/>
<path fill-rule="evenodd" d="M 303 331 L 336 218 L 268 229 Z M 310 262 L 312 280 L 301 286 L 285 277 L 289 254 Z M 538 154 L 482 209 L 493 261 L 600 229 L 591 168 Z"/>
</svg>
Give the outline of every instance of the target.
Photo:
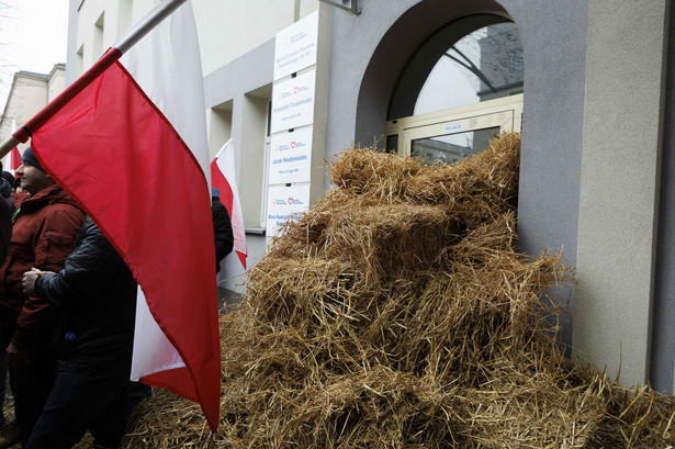
<svg viewBox="0 0 675 449">
<path fill-rule="evenodd" d="M 312 176 L 312 127 L 272 135 L 268 183 L 310 182 Z"/>
</svg>

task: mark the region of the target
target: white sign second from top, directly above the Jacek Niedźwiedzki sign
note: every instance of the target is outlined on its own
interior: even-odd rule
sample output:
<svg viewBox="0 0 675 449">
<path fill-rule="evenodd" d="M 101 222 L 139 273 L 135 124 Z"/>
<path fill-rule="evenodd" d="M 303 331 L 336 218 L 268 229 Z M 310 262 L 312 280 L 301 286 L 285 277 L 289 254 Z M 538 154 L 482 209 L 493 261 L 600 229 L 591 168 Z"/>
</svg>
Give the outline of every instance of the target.
<svg viewBox="0 0 675 449">
<path fill-rule="evenodd" d="M 312 70 L 274 85 L 272 88 L 272 134 L 312 124 L 315 79 L 316 70 Z"/>
</svg>

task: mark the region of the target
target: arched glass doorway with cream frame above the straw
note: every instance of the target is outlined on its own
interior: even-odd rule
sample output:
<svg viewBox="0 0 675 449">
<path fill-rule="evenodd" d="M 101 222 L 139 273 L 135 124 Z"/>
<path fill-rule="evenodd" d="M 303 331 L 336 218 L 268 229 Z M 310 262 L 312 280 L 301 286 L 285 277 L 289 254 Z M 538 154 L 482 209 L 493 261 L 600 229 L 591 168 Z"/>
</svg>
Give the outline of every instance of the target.
<svg viewBox="0 0 675 449">
<path fill-rule="evenodd" d="M 518 29 L 504 14 L 471 14 L 431 34 L 393 91 L 387 151 L 453 162 L 503 131 L 520 131 L 524 85 Z"/>
</svg>

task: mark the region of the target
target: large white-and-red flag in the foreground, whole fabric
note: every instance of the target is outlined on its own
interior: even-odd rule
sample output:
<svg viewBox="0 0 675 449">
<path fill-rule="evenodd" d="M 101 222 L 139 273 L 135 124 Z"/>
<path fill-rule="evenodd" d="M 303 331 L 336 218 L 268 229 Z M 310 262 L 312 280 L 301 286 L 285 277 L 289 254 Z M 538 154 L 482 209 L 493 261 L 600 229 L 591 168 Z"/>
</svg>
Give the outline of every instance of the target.
<svg viewBox="0 0 675 449">
<path fill-rule="evenodd" d="M 115 52 L 121 54 L 111 48 L 102 59 L 119 58 Z M 132 379 L 199 402 L 215 430 L 221 391 L 215 250 L 190 3 L 103 72 L 87 76 L 91 82 L 33 132 L 33 150 L 138 282 Z"/>
</svg>

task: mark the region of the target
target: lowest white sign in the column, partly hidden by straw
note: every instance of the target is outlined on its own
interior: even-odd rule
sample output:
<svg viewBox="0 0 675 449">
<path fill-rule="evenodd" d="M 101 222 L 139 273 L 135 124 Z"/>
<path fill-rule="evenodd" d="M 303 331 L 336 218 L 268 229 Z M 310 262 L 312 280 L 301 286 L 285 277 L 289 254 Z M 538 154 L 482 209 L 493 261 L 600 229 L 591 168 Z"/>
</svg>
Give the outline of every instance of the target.
<svg viewBox="0 0 675 449">
<path fill-rule="evenodd" d="M 310 183 L 292 187 L 270 186 L 268 188 L 267 228 L 268 237 L 277 235 L 279 227 L 289 220 L 297 220 L 293 214 L 310 209 Z"/>
</svg>

